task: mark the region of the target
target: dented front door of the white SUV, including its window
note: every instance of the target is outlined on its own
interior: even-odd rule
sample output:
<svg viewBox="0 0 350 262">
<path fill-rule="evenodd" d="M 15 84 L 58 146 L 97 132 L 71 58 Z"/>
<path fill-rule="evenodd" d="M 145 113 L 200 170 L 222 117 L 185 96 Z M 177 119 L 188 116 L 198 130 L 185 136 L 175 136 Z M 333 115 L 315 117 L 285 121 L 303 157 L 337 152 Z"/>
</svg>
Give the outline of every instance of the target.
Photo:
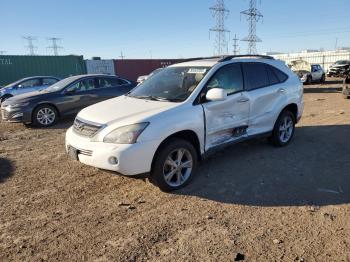
<svg viewBox="0 0 350 262">
<path fill-rule="evenodd" d="M 247 136 L 249 99 L 244 91 L 243 74 L 239 63 L 220 68 L 209 80 L 206 92 L 223 88 L 228 97 L 224 101 L 206 101 L 206 145 L 208 150 Z"/>
</svg>

